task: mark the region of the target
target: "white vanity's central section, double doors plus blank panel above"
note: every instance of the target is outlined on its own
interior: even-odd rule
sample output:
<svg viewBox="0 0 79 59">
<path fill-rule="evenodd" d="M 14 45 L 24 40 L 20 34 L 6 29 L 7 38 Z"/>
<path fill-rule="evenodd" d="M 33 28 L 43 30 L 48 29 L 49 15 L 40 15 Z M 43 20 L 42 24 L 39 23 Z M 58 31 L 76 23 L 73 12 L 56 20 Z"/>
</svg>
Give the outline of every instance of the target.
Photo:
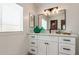
<svg viewBox="0 0 79 59">
<path fill-rule="evenodd" d="M 58 54 L 58 37 L 38 36 L 38 54 L 57 55 Z"/>
</svg>

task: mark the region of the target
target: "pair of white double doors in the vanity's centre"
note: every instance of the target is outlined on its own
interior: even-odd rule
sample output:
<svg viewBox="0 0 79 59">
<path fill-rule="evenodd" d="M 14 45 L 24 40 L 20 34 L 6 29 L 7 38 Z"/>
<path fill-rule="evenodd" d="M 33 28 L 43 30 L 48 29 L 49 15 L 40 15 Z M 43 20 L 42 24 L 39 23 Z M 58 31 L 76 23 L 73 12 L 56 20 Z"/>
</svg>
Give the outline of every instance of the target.
<svg viewBox="0 0 79 59">
<path fill-rule="evenodd" d="M 38 55 L 57 55 L 58 43 L 52 41 L 38 40 Z"/>
</svg>

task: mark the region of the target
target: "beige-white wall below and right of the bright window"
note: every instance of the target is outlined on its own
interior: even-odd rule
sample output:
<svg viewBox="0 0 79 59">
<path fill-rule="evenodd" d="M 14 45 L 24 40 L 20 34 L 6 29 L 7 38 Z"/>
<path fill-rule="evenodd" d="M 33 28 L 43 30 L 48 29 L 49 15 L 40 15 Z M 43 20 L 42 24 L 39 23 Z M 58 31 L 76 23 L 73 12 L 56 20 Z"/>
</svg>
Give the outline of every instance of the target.
<svg viewBox="0 0 79 59">
<path fill-rule="evenodd" d="M 34 12 L 33 4 L 19 4 L 24 8 L 24 31 L 0 33 L 0 54 L 27 54 L 27 32 L 29 28 L 29 14 Z"/>
</svg>

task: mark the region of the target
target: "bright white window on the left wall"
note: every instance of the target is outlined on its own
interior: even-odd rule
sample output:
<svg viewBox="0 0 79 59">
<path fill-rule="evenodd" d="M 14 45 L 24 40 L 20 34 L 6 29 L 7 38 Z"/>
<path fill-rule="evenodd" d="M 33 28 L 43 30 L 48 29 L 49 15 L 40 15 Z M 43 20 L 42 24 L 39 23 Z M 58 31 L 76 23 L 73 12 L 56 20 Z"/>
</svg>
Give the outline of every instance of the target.
<svg viewBox="0 0 79 59">
<path fill-rule="evenodd" d="M 17 4 L 1 4 L 0 32 L 23 31 L 23 8 Z"/>
</svg>

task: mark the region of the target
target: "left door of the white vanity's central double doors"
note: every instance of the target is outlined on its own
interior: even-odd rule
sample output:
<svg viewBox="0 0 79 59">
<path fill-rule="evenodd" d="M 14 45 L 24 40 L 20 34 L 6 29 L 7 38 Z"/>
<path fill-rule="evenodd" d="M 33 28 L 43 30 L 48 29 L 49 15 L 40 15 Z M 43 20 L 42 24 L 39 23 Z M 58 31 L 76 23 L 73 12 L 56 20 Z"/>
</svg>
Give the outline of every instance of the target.
<svg viewBox="0 0 79 59">
<path fill-rule="evenodd" d="M 38 40 L 38 55 L 46 55 L 46 44 L 43 40 Z"/>
</svg>

